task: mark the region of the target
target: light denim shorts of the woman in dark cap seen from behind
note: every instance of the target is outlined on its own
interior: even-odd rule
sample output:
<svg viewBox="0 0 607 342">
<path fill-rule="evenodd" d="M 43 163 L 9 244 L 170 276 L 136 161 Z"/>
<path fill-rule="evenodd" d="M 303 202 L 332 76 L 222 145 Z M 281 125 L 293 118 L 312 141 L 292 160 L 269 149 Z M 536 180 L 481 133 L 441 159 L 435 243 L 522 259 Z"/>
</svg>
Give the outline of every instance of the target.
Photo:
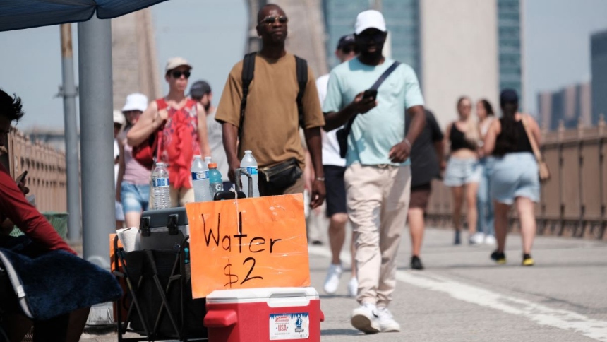
<svg viewBox="0 0 607 342">
<path fill-rule="evenodd" d="M 507 153 L 495 158 L 491 172 L 491 197 L 503 204 L 513 204 L 517 197 L 539 201 L 539 175 L 533 153 Z"/>
</svg>

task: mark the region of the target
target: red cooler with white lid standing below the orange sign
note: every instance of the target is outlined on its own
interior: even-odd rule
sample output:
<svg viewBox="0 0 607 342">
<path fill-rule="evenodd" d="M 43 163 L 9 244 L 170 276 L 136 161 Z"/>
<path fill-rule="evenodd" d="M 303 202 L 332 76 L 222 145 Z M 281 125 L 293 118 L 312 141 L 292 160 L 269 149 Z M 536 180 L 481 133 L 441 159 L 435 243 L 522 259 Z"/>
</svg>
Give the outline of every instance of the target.
<svg viewBox="0 0 607 342">
<path fill-rule="evenodd" d="M 320 342 L 324 320 L 314 288 L 216 290 L 207 296 L 209 342 Z"/>
</svg>

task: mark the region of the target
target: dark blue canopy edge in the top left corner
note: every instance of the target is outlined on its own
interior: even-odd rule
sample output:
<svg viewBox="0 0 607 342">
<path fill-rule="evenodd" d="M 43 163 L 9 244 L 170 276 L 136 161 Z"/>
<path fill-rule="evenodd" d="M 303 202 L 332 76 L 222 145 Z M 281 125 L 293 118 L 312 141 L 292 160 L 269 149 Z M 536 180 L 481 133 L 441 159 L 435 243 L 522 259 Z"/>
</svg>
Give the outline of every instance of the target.
<svg viewBox="0 0 607 342">
<path fill-rule="evenodd" d="M 0 31 L 111 19 L 166 0 L 2 0 Z"/>
</svg>

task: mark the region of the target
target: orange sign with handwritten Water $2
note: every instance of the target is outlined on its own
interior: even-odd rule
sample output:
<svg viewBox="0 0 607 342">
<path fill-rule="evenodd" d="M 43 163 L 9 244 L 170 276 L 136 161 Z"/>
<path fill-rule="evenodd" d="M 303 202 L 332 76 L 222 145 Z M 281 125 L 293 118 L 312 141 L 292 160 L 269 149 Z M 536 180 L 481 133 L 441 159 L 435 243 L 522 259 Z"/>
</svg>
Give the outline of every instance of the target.
<svg viewBox="0 0 607 342">
<path fill-rule="evenodd" d="M 301 194 L 190 203 L 186 211 L 194 298 L 310 285 Z"/>
</svg>

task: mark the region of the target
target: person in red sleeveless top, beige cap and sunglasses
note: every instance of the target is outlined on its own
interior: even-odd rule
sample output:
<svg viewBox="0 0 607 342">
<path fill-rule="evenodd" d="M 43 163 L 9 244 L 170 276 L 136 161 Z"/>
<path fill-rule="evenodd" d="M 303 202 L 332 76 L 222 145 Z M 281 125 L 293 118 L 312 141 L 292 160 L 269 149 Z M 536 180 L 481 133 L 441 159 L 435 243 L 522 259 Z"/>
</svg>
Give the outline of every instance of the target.
<svg viewBox="0 0 607 342">
<path fill-rule="evenodd" d="M 140 119 L 126 134 L 130 146 L 138 146 L 160 131 L 159 161 L 167 165 L 171 206 L 194 201 L 190 169 L 194 155 L 210 155 L 205 124 L 205 109 L 186 97 L 192 66 L 181 57 L 173 57 L 164 68 L 169 93 L 152 101 Z"/>
</svg>

